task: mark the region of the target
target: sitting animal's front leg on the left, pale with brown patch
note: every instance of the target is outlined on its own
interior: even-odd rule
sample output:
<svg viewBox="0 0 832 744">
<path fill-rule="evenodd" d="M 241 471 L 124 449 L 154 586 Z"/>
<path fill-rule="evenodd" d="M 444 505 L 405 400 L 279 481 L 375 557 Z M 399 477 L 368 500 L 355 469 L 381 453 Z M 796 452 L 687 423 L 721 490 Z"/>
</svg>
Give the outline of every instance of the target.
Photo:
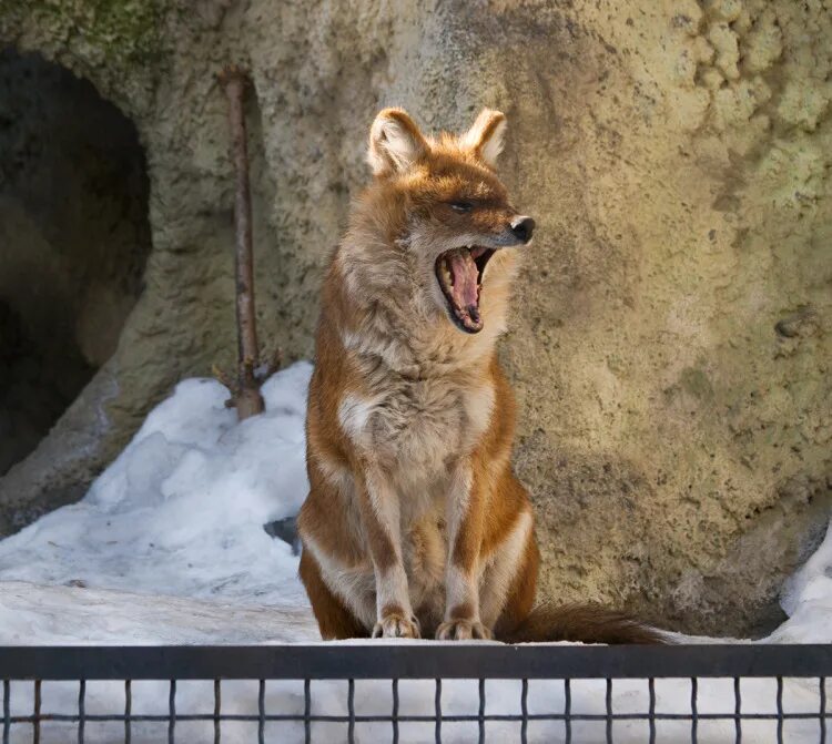
<svg viewBox="0 0 832 744">
<path fill-rule="evenodd" d="M 373 465 L 365 468 L 359 490 L 362 522 L 376 581 L 373 638 L 419 638 L 402 553 L 398 495 Z"/>
</svg>

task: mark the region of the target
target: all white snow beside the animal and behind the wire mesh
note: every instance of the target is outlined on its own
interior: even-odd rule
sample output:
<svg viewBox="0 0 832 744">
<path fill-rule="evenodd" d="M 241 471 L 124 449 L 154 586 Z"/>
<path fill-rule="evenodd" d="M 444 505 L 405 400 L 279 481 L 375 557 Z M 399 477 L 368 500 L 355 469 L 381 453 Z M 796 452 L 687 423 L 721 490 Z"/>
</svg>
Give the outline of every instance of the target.
<svg viewBox="0 0 832 744">
<path fill-rule="evenodd" d="M 0 541 L 0 644 L 166 644 L 314 642 L 317 630 L 297 580 L 297 557 L 288 544 L 270 537 L 263 526 L 296 514 L 307 481 L 304 466 L 304 411 L 312 368 L 296 364 L 274 375 L 263 387 L 266 411 L 237 424 L 225 408 L 226 389 L 210 379 L 189 379 L 160 404 L 121 456 L 77 505 L 47 514 Z M 783 609 L 789 615 L 763 642 L 832 642 L 832 528 L 824 542 L 788 583 Z M 687 639 L 701 642 L 704 639 Z M 375 652 L 383 644 L 371 642 Z M 689 680 L 658 680 L 657 711 L 689 713 Z M 832 692 L 832 685 L 828 693 Z M 133 683 L 133 712 L 166 712 L 168 684 Z M 42 709 L 72 713 L 77 683 L 44 682 Z M 402 681 L 399 712 L 430 715 L 433 681 Z M 773 680 L 743 680 L 745 712 L 772 712 Z M 487 712 L 519 713 L 520 683 L 488 681 Z M 574 681 L 576 713 L 605 712 L 603 681 Z M 313 712 L 346 714 L 346 683 L 313 682 Z M 733 712 L 731 680 L 700 680 L 700 713 Z M 31 683 L 11 684 L 11 714 L 32 710 Z M 531 681 L 530 714 L 564 710 L 559 681 Z M 303 712 L 302 682 L 270 682 L 268 713 Z M 87 711 L 123 709 L 118 683 L 88 682 Z M 356 682 L 358 715 L 388 714 L 389 682 Z M 787 680 L 787 711 L 816 712 L 816 680 Z M 211 713 L 211 682 L 180 682 L 179 713 Z M 616 681 L 615 712 L 648 707 L 646 681 Z M 476 714 L 476 682 L 443 684 L 446 713 Z M 223 683 L 223 712 L 257 714 L 256 682 Z M 690 723 L 658 722 L 660 741 L 690 741 Z M 44 726 L 43 742 L 74 737 L 60 723 Z M 434 741 L 430 723 L 402 723 L 402 742 Z M 519 740 L 519 724 L 489 722 L 489 741 Z M 789 721 L 784 741 L 816 742 L 816 721 Z M 390 737 L 389 724 L 359 723 L 356 741 Z M 700 742 L 733 741 L 733 722 L 700 721 Z M 743 722 L 747 741 L 775 738 L 773 723 Z M 181 742 L 211 741 L 213 723 L 176 725 Z M 344 741 L 338 723 L 315 723 L 315 741 Z M 16 738 L 18 736 L 19 738 Z M 88 742 L 119 741 L 121 724 L 89 723 Z M 134 742 L 166 736 L 165 724 L 133 726 Z M 303 741 L 301 725 L 270 723 L 266 741 Z M 443 741 L 467 742 L 477 723 L 443 725 Z M 560 722 L 530 722 L 529 741 L 564 741 Z M 572 741 L 603 741 L 603 722 L 575 722 Z M 223 724 L 223 742 L 248 742 L 256 723 Z M 31 728 L 12 727 L 11 741 L 29 741 Z M 616 722 L 616 742 L 647 741 L 645 722 Z"/>
</svg>

